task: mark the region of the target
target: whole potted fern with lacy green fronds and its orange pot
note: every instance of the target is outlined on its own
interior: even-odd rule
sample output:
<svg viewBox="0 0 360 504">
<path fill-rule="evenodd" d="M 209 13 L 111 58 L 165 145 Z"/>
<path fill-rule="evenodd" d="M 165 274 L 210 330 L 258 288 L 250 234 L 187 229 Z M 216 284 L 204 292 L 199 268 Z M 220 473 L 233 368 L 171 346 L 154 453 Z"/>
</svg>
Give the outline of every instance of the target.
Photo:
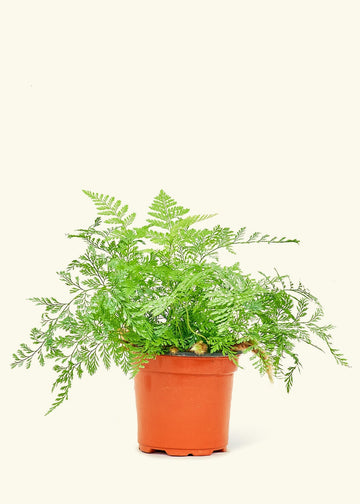
<svg viewBox="0 0 360 504">
<path fill-rule="evenodd" d="M 348 365 L 332 346 L 332 326 L 320 324 L 318 299 L 301 283 L 277 271 L 255 278 L 218 258 L 237 245 L 298 240 L 247 235 L 244 227 L 194 227 L 214 215 L 189 215 L 163 190 L 147 223 L 135 227 L 127 205 L 84 193 L 99 216 L 68 235 L 86 244 L 58 272 L 71 296 L 31 298 L 44 308 L 41 324 L 11 364 L 54 362 L 58 395 L 46 414 L 68 399 L 76 376 L 114 363 L 134 377 L 140 449 L 205 455 L 226 449 L 239 354 L 249 354 L 270 380 L 284 380 L 287 391 L 301 366 L 300 342 L 321 349 L 318 339 Z"/>
</svg>

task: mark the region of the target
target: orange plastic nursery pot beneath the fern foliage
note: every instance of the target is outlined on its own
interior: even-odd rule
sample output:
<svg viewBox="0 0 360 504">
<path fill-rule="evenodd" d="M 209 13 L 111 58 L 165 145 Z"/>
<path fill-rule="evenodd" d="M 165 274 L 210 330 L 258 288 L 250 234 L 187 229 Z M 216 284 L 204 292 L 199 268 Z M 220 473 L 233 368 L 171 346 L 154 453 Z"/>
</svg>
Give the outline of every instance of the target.
<svg viewBox="0 0 360 504">
<path fill-rule="evenodd" d="M 224 356 L 158 355 L 145 364 L 134 378 L 140 450 L 226 451 L 236 369 Z"/>
</svg>

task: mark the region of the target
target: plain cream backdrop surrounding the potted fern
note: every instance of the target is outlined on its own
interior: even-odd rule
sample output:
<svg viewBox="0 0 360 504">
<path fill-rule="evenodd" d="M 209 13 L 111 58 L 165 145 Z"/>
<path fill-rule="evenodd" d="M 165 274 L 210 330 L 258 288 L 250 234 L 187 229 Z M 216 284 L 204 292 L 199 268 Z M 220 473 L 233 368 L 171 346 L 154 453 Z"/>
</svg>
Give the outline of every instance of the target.
<svg viewBox="0 0 360 504">
<path fill-rule="evenodd" d="M 3 1 L 2 502 L 360 500 L 358 1 Z M 39 324 L 27 298 L 66 291 L 66 233 L 114 195 L 144 223 L 164 189 L 213 225 L 298 238 L 225 255 L 319 297 L 352 367 L 299 348 L 293 391 L 243 357 L 229 451 L 138 451 L 133 382 L 75 381 L 51 415 L 51 366 L 10 369 Z M 210 221 L 209 221 L 210 223 Z"/>
</svg>

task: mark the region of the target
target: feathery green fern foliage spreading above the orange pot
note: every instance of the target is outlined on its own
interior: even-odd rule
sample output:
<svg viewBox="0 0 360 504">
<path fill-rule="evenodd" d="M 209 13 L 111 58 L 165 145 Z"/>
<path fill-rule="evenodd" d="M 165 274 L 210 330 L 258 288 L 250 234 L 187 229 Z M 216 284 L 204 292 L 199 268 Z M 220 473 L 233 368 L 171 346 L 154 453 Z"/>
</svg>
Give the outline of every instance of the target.
<svg viewBox="0 0 360 504">
<path fill-rule="evenodd" d="M 301 283 L 287 275 L 260 279 L 235 263 L 221 266 L 218 253 L 250 244 L 299 243 L 246 228 L 197 228 L 215 214 L 190 215 L 163 190 L 154 198 L 147 223 L 114 197 L 84 191 L 97 209 L 93 224 L 69 234 L 84 252 L 58 273 L 69 298 L 32 298 L 43 309 L 30 342 L 13 354 L 12 367 L 34 360 L 54 363 L 58 395 L 48 413 L 68 399 L 75 377 L 111 364 L 134 376 L 156 355 L 222 353 L 237 362 L 251 352 L 261 374 L 283 379 L 290 390 L 301 366 L 298 343 L 322 350 L 347 366 L 332 346 L 331 325 L 320 325 L 322 307 Z M 290 363 L 288 362 L 290 360 Z"/>
</svg>

